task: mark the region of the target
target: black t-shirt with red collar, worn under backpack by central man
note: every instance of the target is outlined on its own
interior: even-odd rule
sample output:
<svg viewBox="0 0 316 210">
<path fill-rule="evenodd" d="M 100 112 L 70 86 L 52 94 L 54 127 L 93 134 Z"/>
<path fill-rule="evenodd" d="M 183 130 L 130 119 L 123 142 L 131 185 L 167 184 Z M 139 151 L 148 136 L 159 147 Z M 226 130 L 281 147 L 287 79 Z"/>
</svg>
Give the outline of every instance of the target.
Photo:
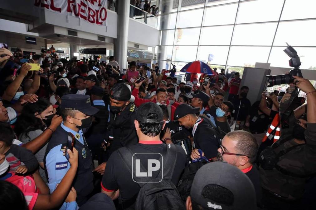
<svg viewBox="0 0 316 210">
<path fill-rule="evenodd" d="M 177 148 L 178 155 L 177 160 L 172 160 L 176 161 L 176 164 L 171 181 L 177 186 L 180 174 L 182 173 L 185 166 L 185 152 L 180 146 L 175 146 Z M 166 154 L 166 144 L 162 143 L 161 141 L 142 141 L 141 143 L 129 146 L 129 148 L 133 153 Z M 150 156 L 148 159 L 151 159 Z M 147 161 L 142 160 L 143 159 L 141 159 L 142 165 L 147 166 Z M 165 161 L 167 160 L 163 159 L 163 163 Z M 155 174 L 153 173 L 153 177 L 154 176 Z M 105 191 L 114 191 L 119 189 L 124 208 L 134 205 L 136 201 L 140 186 L 133 180 L 129 169 L 126 167 L 125 163 L 119 156 L 117 150 L 112 153 L 106 163 L 105 172 L 102 177 L 102 189 Z"/>
</svg>

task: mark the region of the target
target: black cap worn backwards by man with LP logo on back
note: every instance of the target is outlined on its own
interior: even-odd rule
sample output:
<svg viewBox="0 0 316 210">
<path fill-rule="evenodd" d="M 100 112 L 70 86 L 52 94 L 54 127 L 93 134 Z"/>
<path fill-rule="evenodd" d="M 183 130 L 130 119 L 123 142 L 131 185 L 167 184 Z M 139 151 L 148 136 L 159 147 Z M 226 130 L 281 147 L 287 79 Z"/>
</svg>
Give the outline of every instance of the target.
<svg viewBox="0 0 316 210">
<path fill-rule="evenodd" d="M 150 114 L 155 114 L 149 117 Z M 163 120 L 163 112 L 159 105 L 153 102 L 143 103 L 136 112 L 136 120 L 145 123 L 161 122 Z"/>
</svg>

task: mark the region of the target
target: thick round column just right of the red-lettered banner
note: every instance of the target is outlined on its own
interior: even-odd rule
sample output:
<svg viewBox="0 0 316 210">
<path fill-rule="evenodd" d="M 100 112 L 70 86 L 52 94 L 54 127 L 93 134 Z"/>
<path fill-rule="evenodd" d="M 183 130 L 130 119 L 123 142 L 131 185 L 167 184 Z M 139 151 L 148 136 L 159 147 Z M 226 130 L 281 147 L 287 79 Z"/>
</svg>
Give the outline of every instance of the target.
<svg viewBox="0 0 316 210">
<path fill-rule="evenodd" d="M 127 38 L 130 18 L 130 1 L 116 1 L 118 11 L 117 38 L 114 40 L 114 57 L 120 70 L 127 68 Z M 122 72 L 122 71 L 121 71 Z"/>
</svg>

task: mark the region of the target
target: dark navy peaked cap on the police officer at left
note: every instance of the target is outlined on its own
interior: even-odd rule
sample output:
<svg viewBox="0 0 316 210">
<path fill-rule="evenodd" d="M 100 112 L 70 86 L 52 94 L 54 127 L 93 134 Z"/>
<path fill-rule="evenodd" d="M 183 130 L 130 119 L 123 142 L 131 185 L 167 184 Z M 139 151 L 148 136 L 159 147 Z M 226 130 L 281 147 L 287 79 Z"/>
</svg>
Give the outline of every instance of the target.
<svg viewBox="0 0 316 210">
<path fill-rule="evenodd" d="M 63 101 L 60 109 L 78 110 L 83 114 L 94 115 L 99 109 L 91 106 L 90 96 L 81 94 L 68 94 L 61 97 Z"/>
</svg>

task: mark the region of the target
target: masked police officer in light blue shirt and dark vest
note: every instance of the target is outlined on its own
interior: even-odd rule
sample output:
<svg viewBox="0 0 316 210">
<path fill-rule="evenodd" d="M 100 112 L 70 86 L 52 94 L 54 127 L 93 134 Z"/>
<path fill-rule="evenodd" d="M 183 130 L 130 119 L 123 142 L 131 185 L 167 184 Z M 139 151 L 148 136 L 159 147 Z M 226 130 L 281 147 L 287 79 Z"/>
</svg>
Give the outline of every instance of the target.
<svg viewBox="0 0 316 210">
<path fill-rule="evenodd" d="M 99 109 L 91 106 L 90 96 L 80 94 L 69 94 L 62 97 L 60 105 L 63 122 L 56 129 L 48 143 L 44 163 L 48 177 L 48 187 L 52 193 L 56 185 L 64 177 L 70 163 L 63 155 L 64 147 L 69 133 L 76 138 L 74 147 L 78 150 L 78 171 L 73 186 L 77 191 L 77 204 L 84 204 L 94 189 L 94 169 L 92 157 L 83 133 L 91 125 L 92 115 Z M 69 209 L 68 203 L 64 203 L 60 209 Z"/>
</svg>

